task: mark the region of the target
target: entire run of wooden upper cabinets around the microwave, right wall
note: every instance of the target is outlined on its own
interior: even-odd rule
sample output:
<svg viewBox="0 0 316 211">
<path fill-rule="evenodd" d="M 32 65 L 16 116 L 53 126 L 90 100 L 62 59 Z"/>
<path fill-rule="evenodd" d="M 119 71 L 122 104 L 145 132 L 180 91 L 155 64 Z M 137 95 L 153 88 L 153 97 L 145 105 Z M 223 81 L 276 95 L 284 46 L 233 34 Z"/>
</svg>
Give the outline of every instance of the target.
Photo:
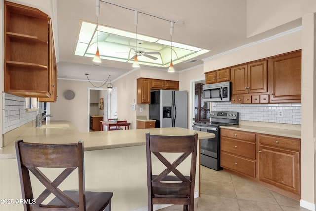
<svg viewBox="0 0 316 211">
<path fill-rule="evenodd" d="M 205 81 L 217 82 L 222 70 L 205 73 Z M 230 73 L 231 103 L 301 102 L 301 50 L 232 66 Z"/>
</svg>

